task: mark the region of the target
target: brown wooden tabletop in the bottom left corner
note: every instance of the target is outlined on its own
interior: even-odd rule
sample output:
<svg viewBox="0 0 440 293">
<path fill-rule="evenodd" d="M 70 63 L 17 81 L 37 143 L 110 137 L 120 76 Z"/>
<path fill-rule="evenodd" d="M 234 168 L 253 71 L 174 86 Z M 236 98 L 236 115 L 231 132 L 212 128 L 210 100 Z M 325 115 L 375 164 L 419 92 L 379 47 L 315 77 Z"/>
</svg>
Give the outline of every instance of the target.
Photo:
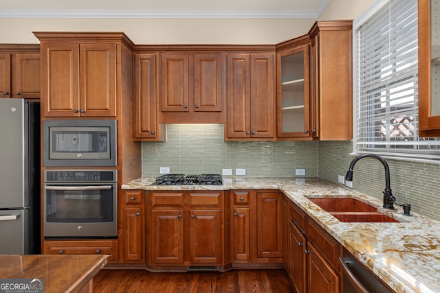
<svg viewBox="0 0 440 293">
<path fill-rule="evenodd" d="M 79 292 L 88 286 L 91 279 L 105 266 L 107 257 L 107 255 L 0 255 L 0 276 L 2 279 L 35 279 L 32 283 L 43 281 L 46 293 Z M 4 280 L 2 283 L 5 283 Z M 40 291 L 43 292 L 42 290 L 32 292 Z M 10 292 L 18 291 L 10 290 Z"/>
</svg>

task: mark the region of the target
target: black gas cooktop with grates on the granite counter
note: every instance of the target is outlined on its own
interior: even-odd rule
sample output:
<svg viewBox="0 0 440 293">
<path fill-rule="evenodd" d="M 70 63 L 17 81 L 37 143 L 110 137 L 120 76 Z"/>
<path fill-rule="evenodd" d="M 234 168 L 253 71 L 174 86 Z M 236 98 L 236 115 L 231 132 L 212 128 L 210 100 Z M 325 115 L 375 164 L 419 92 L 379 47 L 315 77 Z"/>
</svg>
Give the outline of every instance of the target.
<svg viewBox="0 0 440 293">
<path fill-rule="evenodd" d="M 165 174 L 156 178 L 153 185 L 222 185 L 223 178 L 219 174 Z"/>
</svg>

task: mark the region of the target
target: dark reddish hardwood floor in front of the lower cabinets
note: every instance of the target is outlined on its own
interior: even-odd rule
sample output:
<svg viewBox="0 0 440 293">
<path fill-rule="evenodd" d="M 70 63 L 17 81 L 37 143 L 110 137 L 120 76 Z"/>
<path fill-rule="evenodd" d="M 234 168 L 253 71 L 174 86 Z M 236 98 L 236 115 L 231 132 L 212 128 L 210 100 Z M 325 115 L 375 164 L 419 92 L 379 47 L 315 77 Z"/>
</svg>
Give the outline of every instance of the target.
<svg viewBox="0 0 440 293">
<path fill-rule="evenodd" d="M 104 269 L 94 277 L 94 292 L 289 293 L 285 270 L 228 272 L 148 272 Z"/>
</svg>

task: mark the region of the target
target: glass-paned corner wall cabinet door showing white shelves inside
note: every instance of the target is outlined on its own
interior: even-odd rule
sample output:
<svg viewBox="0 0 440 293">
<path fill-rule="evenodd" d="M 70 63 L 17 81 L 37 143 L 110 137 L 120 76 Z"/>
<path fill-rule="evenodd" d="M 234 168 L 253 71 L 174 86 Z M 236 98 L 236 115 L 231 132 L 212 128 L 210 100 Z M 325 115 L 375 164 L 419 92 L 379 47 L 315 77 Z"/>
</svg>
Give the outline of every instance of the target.
<svg viewBox="0 0 440 293">
<path fill-rule="evenodd" d="M 277 53 L 278 129 L 280 138 L 309 138 L 309 45 Z"/>
</svg>

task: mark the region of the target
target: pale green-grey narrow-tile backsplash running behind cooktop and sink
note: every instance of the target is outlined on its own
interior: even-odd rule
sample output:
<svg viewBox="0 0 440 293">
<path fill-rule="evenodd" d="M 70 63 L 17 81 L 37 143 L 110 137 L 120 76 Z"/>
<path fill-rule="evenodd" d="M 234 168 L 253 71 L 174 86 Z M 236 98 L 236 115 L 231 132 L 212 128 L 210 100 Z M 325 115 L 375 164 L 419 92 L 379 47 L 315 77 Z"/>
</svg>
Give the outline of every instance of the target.
<svg viewBox="0 0 440 293">
<path fill-rule="evenodd" d="M 307 177 L 338 183 L 338 175 L 345 176 L 353 159 L 351 141 L 224 141 L 223 131 L 223 124 L 168 124 L 166 142 L 142 143 L 142 176 L 156 177 L 159 167 L 170 167 L 178 174 L 221 174 L 223 168 L 240 168 L 246 169 L 246 176 L 293 177 L 301 168 Z M 397 202 L 440 220 L 439 164 L 386 161 Z M 374 159 L 356 163 L 354 189 L 382 198 L 384 187 L 382 164 Z"/>
</svg>

